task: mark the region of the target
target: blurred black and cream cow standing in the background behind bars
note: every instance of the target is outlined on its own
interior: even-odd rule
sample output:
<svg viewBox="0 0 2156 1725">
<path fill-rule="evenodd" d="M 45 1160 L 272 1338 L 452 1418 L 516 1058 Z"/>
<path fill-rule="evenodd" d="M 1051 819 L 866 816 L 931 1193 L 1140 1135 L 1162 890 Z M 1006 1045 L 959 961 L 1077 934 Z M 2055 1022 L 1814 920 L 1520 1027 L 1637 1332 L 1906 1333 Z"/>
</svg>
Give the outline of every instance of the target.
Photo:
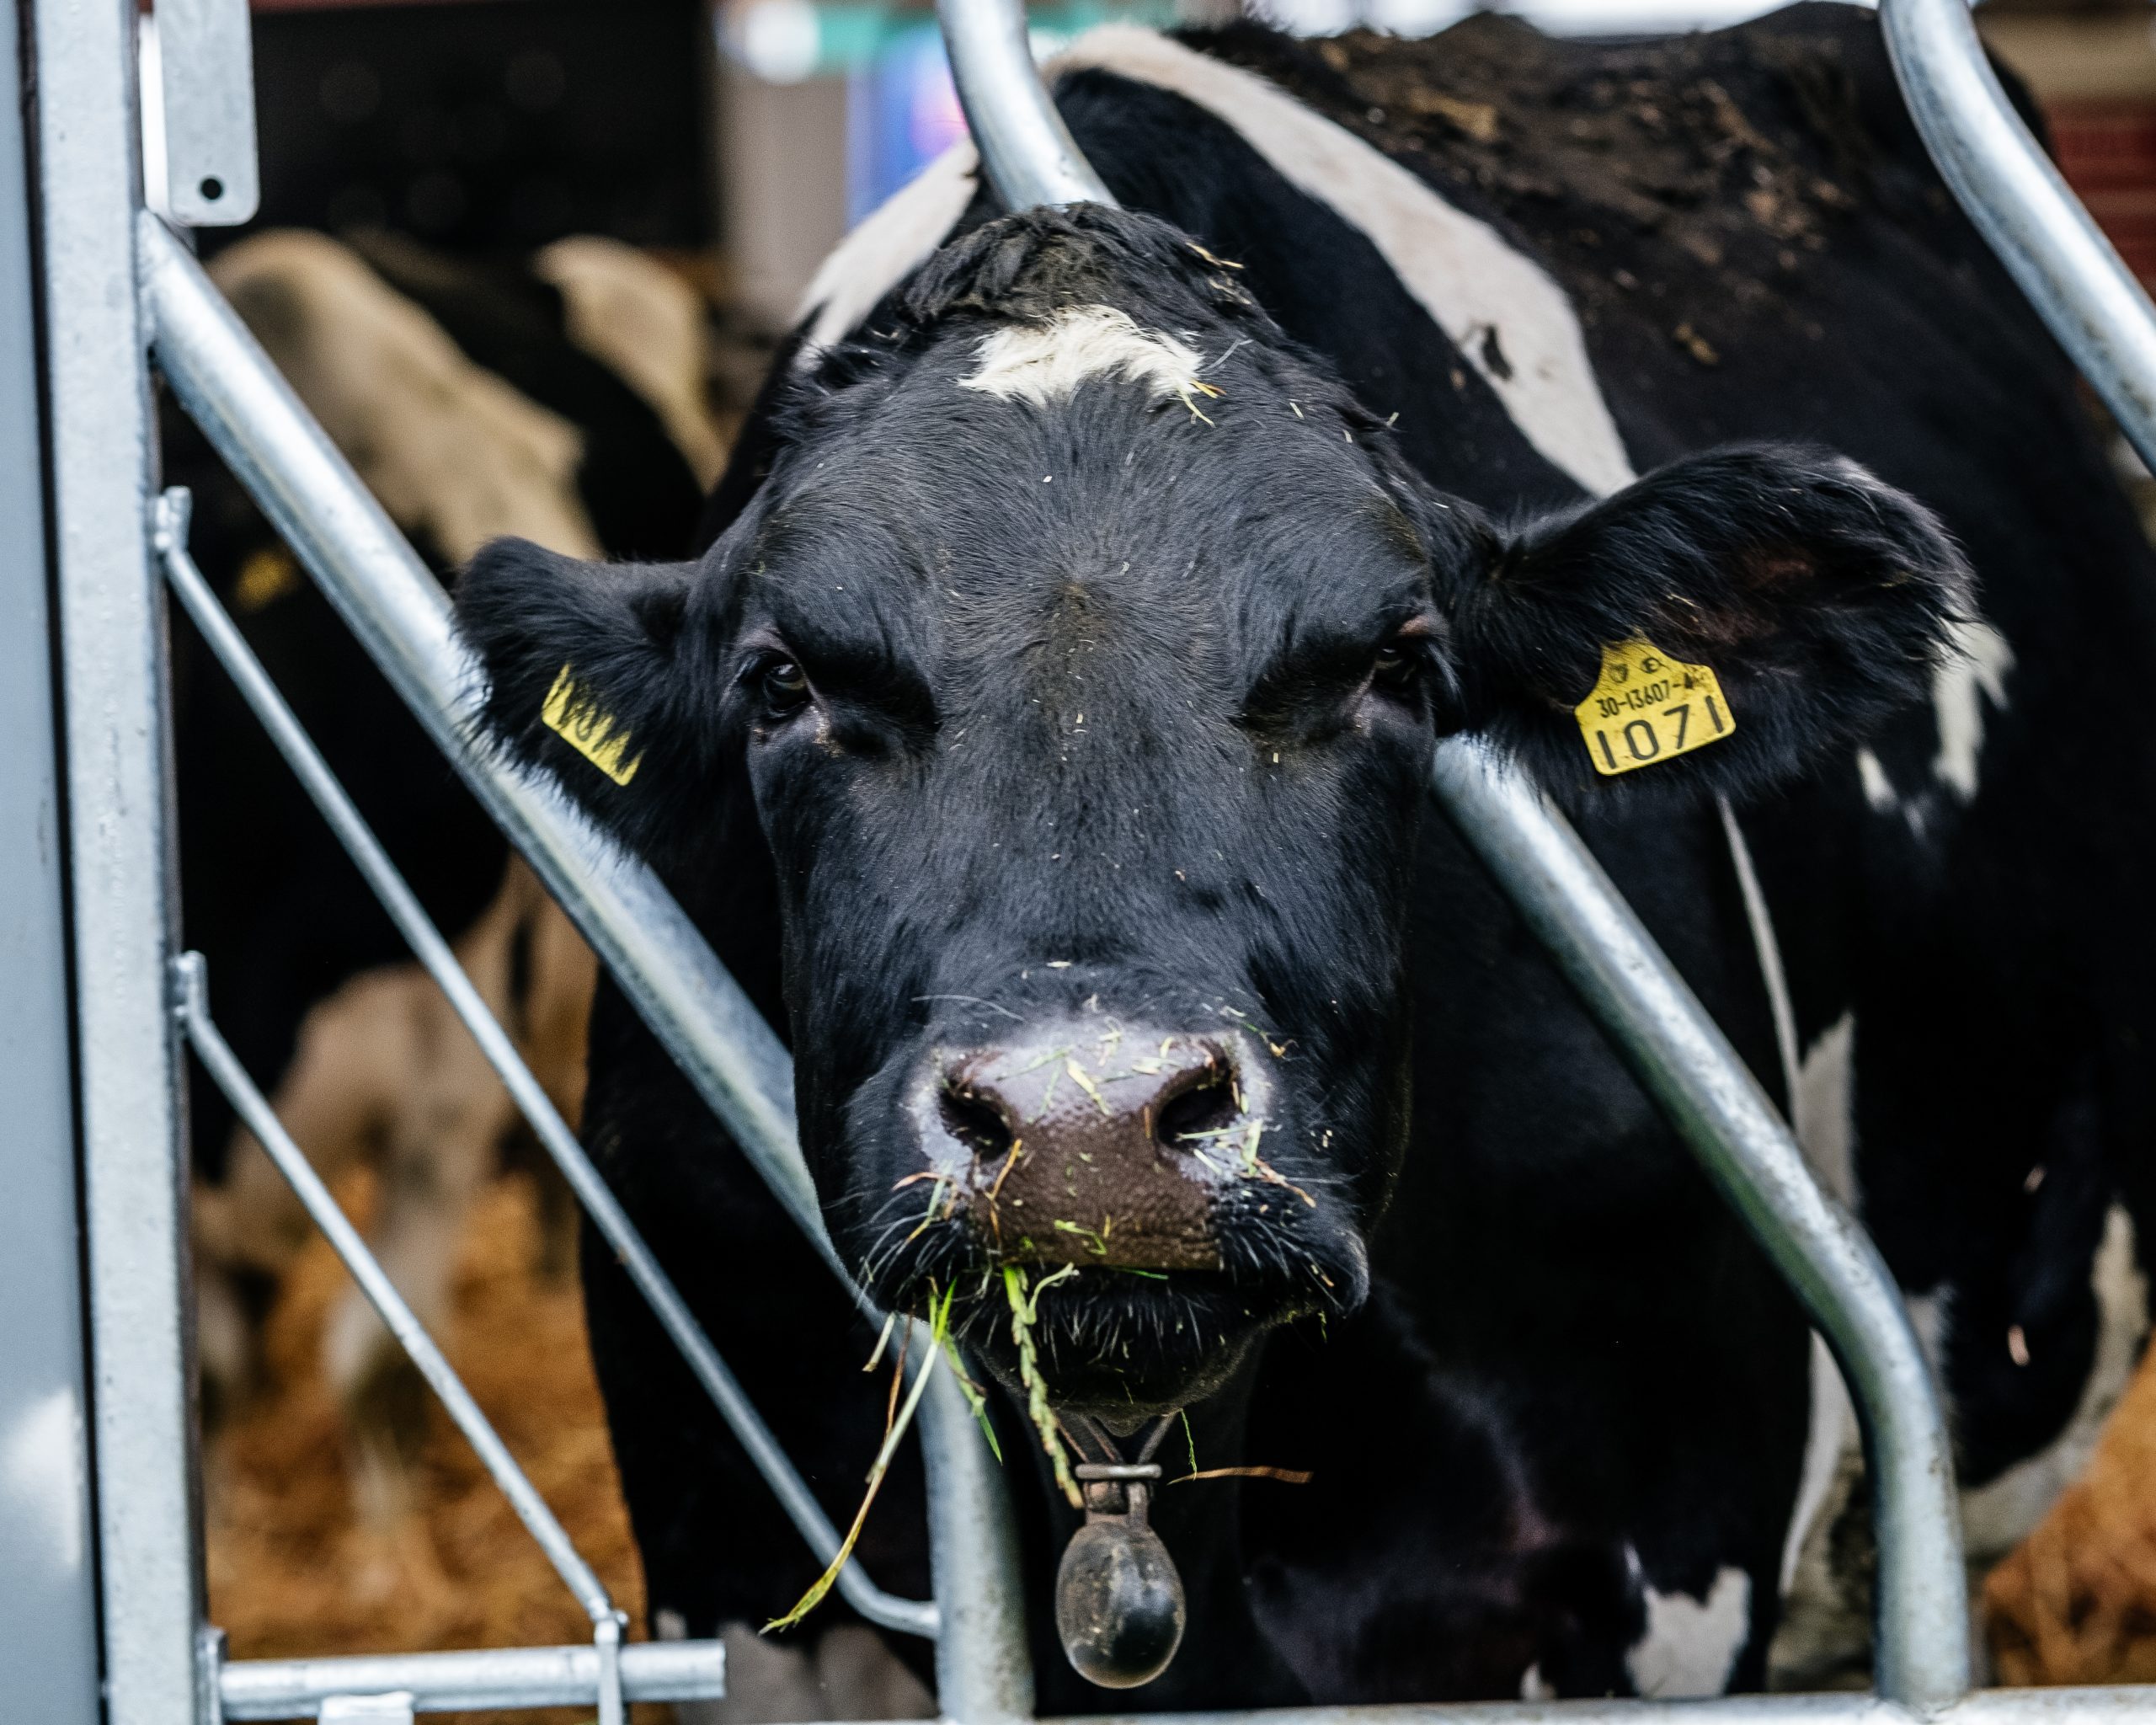
<svg viewBox="0 0 2156 1725">
<path fill-rule="evenodd" d="M 690 543 L 727 438 L 707 408 L 705 304 L 668 267 L 589 237 L 485 270 L 388 235 L 285 231 L 224 250 L 211 274 L 438 574 L 502 533 L 576 556 Z M 166 451 L 196 494 L 205 574 L 573 1121 L 591 951 L 179 414 Z M 188 627 L 175 705 L 185 938 L 209 955 L 220 1020 L 323 1177 L 373 1169 L 373 1248 L 438 1326 L 468 1205 L 520 1138 L 515 1108 Z M 194 1145 L 216 1417 L 252 1382 L 261 1320 L 310 1227 L 207 1085 Z M 565 1195 L 550 1190 L 550 1257 L 567 1268 Z M 416 1380 L 356 1289 L 323 1352 L 382 1512 Z"/>
</svg>

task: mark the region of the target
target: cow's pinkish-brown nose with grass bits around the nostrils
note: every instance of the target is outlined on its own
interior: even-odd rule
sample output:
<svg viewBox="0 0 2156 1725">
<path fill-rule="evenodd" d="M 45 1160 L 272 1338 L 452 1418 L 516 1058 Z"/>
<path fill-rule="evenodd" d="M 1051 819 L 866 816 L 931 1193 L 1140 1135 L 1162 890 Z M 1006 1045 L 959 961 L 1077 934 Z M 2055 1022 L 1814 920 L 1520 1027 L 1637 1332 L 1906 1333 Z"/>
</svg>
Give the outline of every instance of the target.
<svg viewBox="0 0 2156 1725">
<path fill-rule="evenodd" d="M 1005 1261 L 1218 1268 L 1212 1201 L 1261 1154 L 1270 1087 L 1218 1035 L 1087 1026 L 946 1050 L 934 1132 Z"/>
</svg>

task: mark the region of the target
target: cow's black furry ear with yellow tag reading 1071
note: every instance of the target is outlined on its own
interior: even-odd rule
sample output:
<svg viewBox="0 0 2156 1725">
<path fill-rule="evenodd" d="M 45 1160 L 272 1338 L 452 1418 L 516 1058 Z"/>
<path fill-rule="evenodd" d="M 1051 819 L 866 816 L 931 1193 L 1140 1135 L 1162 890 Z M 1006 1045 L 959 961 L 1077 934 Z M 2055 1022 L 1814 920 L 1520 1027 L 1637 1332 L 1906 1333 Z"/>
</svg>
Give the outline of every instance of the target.
<svg viewBox="0 0 2156 1725">
<path fill-rule="evenodd" d="M 1927 690 L 1951 623 L 1973 612 L 1968 563 L 1938 520 L 1813 448 L 1673 461 L 1587 509 L 1485 535 L 1468 565 L 1453 595 L 1457 722 L 1552 789 L 1783 778 Z M 1673 688 L 1656 696 L 1662 673 Z M 1591 694 L 1606 737 L 1576 712 Z M 1699 699 L 1680 716 L 1686 694 Z"/>
</svg>

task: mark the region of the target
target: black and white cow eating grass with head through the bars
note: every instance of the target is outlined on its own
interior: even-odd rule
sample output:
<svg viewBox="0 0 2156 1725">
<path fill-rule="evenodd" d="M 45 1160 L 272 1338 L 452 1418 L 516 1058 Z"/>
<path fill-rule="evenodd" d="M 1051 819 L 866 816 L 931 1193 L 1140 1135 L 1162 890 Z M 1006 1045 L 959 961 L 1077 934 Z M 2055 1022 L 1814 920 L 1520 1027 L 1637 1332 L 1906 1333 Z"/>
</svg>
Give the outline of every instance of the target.
<svg viewBox="0 0 2156 1725">
<path fill-rule="evenodd" d="M 1074 1445 L 1184 1410 L 1188 1471 L 1309 1473 L 1160 1492 L 1190 1632 L 1138 1706 L 1861 1662 L 1839 1380 L 1425 763 L 1531 761 L 1787 1102 L 1996 1550 L 2139 1350 L 2156 1132 L 2156 569 L 2068 364 L 1854 9 L 1054 71 L 1125 209 L 929 168 L 824 270 L 701 561 L 464 576 L 498 737 L 787 1026 L 841 1253 L 955 1285 L 1046 1712 L 1104 1697 L 1050 1632 L 1013 1264 L 1078 1266 L 1033 1330 Z M 1632 638 L 1736 729 L 1604 778 L 1574 705 Z M 869 1339 L 610 988 L 589 1136 L 845 1520 Z M 815 1565 L 584 1274 L 660 1622 L 746 1650 Z M 862 1557 L 925 1587 L 918 1473 Z"/>
</svg>

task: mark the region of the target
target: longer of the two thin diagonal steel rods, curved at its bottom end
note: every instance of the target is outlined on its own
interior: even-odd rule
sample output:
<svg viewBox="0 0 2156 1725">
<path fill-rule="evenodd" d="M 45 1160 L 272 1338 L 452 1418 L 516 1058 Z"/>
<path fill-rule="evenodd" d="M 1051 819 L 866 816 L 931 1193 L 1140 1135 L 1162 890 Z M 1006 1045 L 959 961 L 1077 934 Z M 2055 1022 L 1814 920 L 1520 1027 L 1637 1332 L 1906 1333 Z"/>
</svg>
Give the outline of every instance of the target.
<svg viewBox="0 0 2156 1725">
<path fill-rule="evenodd" d="M 479 1052 L 485 1054 L 487 1065 L 500 1076 L 509 1089 L 509 1098 L 517 1104 L 524 1119 L 530 1121 L 533 1132 L 554 1160 L 554 1167 L 561 1169 L 563 1179 L 569 1182 L 569 1190 L 576 1192 L 584 1212 L 666 1328 L 666 1335 L 673 1337 L 690 1371 L 696 1374 L 696 1380 L 727 1425 L 742 1440 L 742 1447 L 757 1464 L 757 1473 L 763 1475 L 787 1518 L 800 1529 L 817 1561 L 830 1563 L 839 1555 L 839 1531 L 830 1524 L 824 1507 L 815 1501 L 800 1473 L 796 1473 L 778 1438 L 772 1436 L 772 1430 L 763 1423 L 763 1417 L 703 1333 L 696 1315 L 675 1289 L 673 1279 L 651 1255 L 651 1246 L 636 1231 L 636 1223 L 630 1220 L 630 1214 L 608 1188 L 606 1177 L 593 1167 L 591 1156 L 584 1154 L 569 1123 L 554 1108 L 545 1087 L 533 1078 L 509 1033 L 487 1011 L 487 1003 L 464 972 L 455 951 L 442 938 L 433 919 L 427 916 L 405 878 L 397 873 L 397 865 L 390 862 L 388 852 L 382 850 L 382 841 L 375 839 L 373 828 L 367 826 L 364 815 L 360 815 L 358 806 L 345 794 L 345 787 L 336 783 L 330 763 L 321 759 L 321 750 L 306 735 L 298 714 L 287 705 L 263 662 L 254 658 L 254 649 L 248 647 L 246 636 L 226 615 L 224 606 L 218 604 L 216 593 L 209 591 L 203 571 L 194 567 L 194 558 L 188 556 L 188 494 L 183 489 L 175 487 L 160 498 L 155 541 L 164 558 L 166 580 L 194 619 L 194 625 L 203 632 L 209 651 L 218 656 L 239 696 L 261 720 L 270 740 L 412 947 L 412 953 L 427 968 L 427 975 L 433 977 L 442 994 L 448 996 L 448 1005 L 472 1033 Z M 934 1604 L 886 1593 L 867 1576 L 860 1563 L 847 1563 L 839 1572 L 839 1591 L 871 1624 L 882 1624 L 903 1634 L 936 1634 Z"/>
</svg>

